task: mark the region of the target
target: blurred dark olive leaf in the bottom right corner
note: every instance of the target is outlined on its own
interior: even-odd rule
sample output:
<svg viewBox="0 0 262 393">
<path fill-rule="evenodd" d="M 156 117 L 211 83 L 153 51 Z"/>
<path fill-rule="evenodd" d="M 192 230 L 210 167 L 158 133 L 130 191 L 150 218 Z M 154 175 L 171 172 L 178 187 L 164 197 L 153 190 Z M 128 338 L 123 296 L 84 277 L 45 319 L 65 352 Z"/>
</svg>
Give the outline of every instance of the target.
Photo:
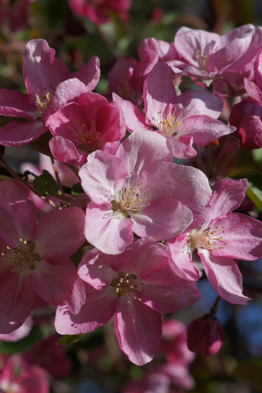
<svg viewBox="0 0 262 393">
<path fill-rule="evenodd" d="M 251 387 L 262 392 L 262 362 L 248 360 L 240 363 L 233 374 L 234 377 L 246 382 Z"/>
</svg>

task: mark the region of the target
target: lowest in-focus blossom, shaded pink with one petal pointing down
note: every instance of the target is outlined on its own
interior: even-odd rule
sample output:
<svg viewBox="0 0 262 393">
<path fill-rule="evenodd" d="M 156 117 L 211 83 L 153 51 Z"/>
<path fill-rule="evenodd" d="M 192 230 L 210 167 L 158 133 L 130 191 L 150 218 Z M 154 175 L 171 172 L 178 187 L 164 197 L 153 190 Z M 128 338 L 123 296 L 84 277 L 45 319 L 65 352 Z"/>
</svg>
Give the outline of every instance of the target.
<svg viewBox="0 0 262 393">
<path fill-rule="evenodd" d="M 199 300 L 194 282 L 183 280 L 168 265 L 166 246 L 152 237 L 139 239 L 123 254 L 86 252 L 78 269 L 86 302 L 74 315 L 59 306 L 55 328 L 60 334 L 91 332 L 115 314 L 117 338 L 131 362 L 149 362 L 160 345 L 161 314 Z"/>
</svg>

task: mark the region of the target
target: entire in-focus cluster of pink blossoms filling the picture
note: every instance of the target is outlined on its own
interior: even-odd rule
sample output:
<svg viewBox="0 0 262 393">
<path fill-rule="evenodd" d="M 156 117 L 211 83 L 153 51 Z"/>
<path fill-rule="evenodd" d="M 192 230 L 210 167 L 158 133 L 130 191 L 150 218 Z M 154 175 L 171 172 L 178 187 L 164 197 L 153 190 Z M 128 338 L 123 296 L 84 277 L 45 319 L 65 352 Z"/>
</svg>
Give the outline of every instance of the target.
<svg viewBox="0 0 262 393">
<path fill-rule="evenodd" d="M 54 200 L 40 194 L 52 211 L 37 211 L 29 196 L 39 194 L 37 182 L 14 176 L 1 157 L 10 175 L 0 182 L 1 334 L 21 327 L 43 303 L 57 306 L 59 334 L 91 332 L 114 315 L 120 348 L 143 365 L 161 344 L 162 314 L 200 299 L 203 271 L 218 297 L 247 303 L 235 259 L 262 256 L 262 223 L 234 212 L 247 181 L 219 178 L 217 164 L 229 138 L 236 146 L 240 138 L 242 147 L 262 147 L 261 49 L 262 28 L 252 25 L 224 36 L 182 27 L 171 44 L 146 39 L 139 60 L 119 59 L 109 73 L 108 102 L 93 92 L 96 56 L 70 75 L 45 40 L 28 42 L 28 94 L 0 89 L 0 114 L 19 118 L 2 127 L 0 145 L 35 143 L 47 133 L 60 191 Z M 197 89 L 181 93 L 184 77 Z M 223 99 L 243 88 L 230 125 L 217 120 Z M 199 166 L 205 173 L 193 166 L 192 157 L 203 163 L 199 146 L 212 155 L 211 165 Z M 74 170 L 79 196 L 61 182 L 54 158 Z M 76 267 L 70 257 L 86 245 Z M 214 310 L 195 321 L 201 341 L 192 339 L 190 326 L 191 350 L 220 348 Z M 164 368 L 165 378 L 175 378 Z"/>
</svg>

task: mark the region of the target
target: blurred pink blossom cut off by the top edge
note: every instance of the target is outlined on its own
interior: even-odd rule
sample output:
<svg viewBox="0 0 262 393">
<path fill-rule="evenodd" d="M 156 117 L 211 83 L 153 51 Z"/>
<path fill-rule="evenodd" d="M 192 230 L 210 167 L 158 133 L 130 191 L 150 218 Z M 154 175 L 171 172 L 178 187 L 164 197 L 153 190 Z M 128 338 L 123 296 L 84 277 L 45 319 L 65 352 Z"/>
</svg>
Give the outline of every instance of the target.
<svg viewBox="0 0 262 393">
<path fill-rule="evenodd" d="M 90 19 L 95 25 L 109 21 L 110 13 L 128 20 L 131 0 L 68 0 L 72 11 Z"/>
</svg>

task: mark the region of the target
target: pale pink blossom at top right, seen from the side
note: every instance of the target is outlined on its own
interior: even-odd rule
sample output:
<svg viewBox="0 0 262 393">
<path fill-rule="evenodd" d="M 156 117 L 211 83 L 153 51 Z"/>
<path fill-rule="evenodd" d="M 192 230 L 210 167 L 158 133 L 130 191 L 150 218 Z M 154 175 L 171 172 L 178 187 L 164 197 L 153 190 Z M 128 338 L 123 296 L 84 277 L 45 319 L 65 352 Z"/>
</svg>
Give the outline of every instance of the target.
<svg viewBox="0 0 262 393">
<path fill-rule="evenodd" d="M 171 68 L 181 68 L 186 75 L 212 79 L 226 71 L 241 71 L 261 49 L 262 28 L 244 25 L 220 36 L 204 30 L 181 27 L 174 44 L 181 62 Z"/>
</svg>

